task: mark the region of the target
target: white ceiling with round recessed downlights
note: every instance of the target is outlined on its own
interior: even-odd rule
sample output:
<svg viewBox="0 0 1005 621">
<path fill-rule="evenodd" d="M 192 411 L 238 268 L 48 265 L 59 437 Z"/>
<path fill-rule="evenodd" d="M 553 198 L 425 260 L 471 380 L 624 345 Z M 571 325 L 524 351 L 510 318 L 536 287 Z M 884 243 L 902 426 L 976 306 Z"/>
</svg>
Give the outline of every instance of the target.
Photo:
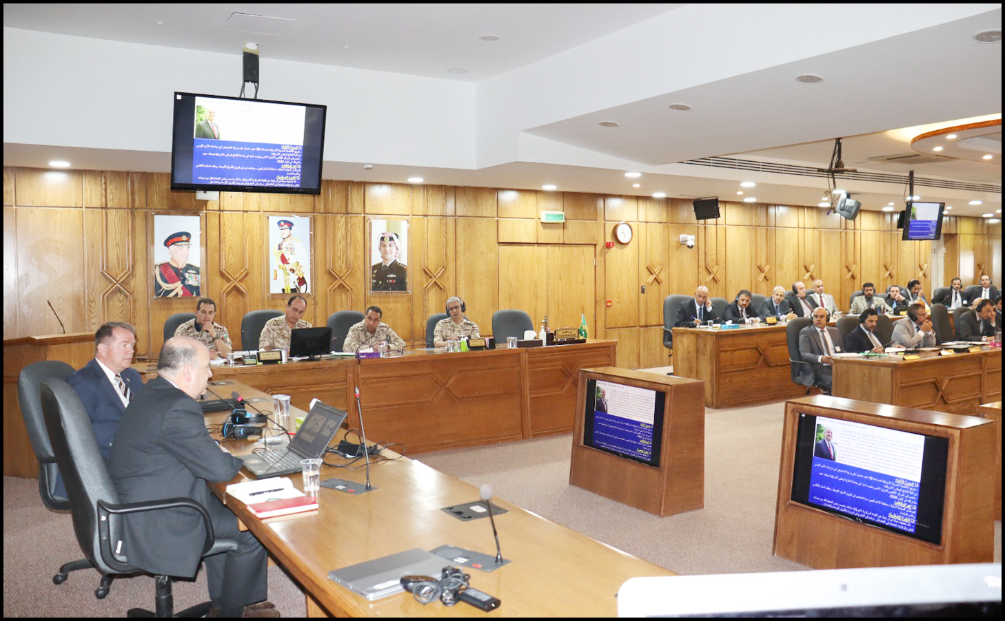
<svg viewBox="0 0 1005 621">
<path fill-rule="evenodd" d="M 681 163 L 725 157 L 824 168 L 833 138 L 845 136 L 848 168 L 897 177 L 914 170 L 918 178 L 984 186 L 932 188 L 922 180 L 916 194 L 953 205 L 957 215 L 1001 209 L 1000 146 L 991 162 L 903 166 L 869 160 L 910 152 L 912 137 L 941 126 L 932 123 L 989 114 L 1000 118 L 1001 44 L 972 38 L 1001 28 L 1000 4 L 912 5 L 902 23 L 880 18 L 891 14 L 882 12 L 894 5 L 787 5 L 795 7 L 788 22 L 768 18 L 776 5 L 719 5 L 710 12 L 714 19 L 695 17 L 698 6 L 5 4 L 4 26 L 221 54 L 238 54 L 241 43 L 250 40 L 261 45 L 263 58 L 464 81 L 475 88 L 531 83 L 536 71 L 555 74 L 554 83 L 541 89 L 541 101 L 534 102 L 542 110 L 534 118 L 546 122 L 527 120 L 532 115 L 526 110 L 514 110 L 519 158 L 480 169 L 391 163 L 370 172 L 363 171 L 364 162 L 330 160 L 326 179 L 401 182 L 419 175 L 430 184 L 538 189 L 554 183 L 574 192 L 665 192 L 671 197 L 755 197 L 759 203 L 816 205 L 826 188 L 820 178 Z M 748 23 L 745 10 L 764 13 L 764 23 Z M 876 19 L 856 13 L 867 10 L 877 11 Z M 280 34 L 227 30 L 234 13 L 279 18 L 250 20 L 256 24 L 250 28 L 267 23 Z M 821 21 L 821 15 L 832 18 Z M 811 24 L 816 27 L 808 29 Z M 482 35 L 500 38 L 482 41 Z M 673 45 L 672 60 L 656 51 Z M 590 64 L 592 53 L 609 56 L 612 46 L 630 51 L 624 59 L 627 86 L 617 83 L 617 65 L 612 71 L 602 60 L 595 67 Z M 575 75 L 568 79 L 575 83 L 564 87 L 563 69 L 570 66 Z M 705 73 L 703 79 L 689 76 L 692 67 Z M 451 68 L 467 73 L 448 73 Z M 589 80 L 582 75 L 591 72 L 599 89 L 618 85 L 633 94 L 620 100 L 611 96 L 609 104 L 601 102 L 603 97 L 588 100 L 577 88 Z M 793 79 L 806 72 L 820 74 L 824 81 L 800 84 Z M 652 77 L 649 88 L 640 83 L 646 75 Z M 229 92 L 232 85 L 226 86 Z M 674 102 L 692 109 L 668 110 L 666 105 Z M 602 127 L 597 124 L 601 120 L 619 126 Z M 5 116 L 5 134 L 7 122 Z M 1000 132 L 997 139 L 1000 145 Z M 164 150 L 124 145 L 62 151 L 74 168 L 170 170 Z M 4 144 L 7 166 L 45 167 L 50 158 L 47 145 Z M 643 176 L 627 180 L 628 170 Z M 738 196 L 741 181 L 758 186 Z M 633 183 L 640 188 L 632 188 Z M 906 193 L 902 183 L 847 186 L 864 209 L 888 202 L 902 205 Z M 969 206 L 972 200 L 984 204 Z"/>
</svg>

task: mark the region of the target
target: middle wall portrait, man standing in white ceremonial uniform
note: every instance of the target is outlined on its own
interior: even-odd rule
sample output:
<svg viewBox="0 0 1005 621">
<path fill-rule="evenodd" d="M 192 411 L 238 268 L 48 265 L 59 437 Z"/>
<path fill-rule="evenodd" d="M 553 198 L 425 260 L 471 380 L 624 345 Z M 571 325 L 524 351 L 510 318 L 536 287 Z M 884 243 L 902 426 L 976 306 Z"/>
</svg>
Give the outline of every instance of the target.
<svg viewBox="0 0 1005 621">
<path fill-rule="evenodd" d="M 268 292 L 314 293 L 311 217 L 268 217 Z"/>
</svg>

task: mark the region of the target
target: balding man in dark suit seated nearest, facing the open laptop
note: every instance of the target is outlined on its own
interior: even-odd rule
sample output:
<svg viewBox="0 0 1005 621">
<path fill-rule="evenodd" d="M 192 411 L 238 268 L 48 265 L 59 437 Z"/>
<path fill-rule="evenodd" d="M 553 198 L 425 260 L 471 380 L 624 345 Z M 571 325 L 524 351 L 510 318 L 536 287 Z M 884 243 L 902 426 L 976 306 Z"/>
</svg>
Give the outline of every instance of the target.
<svg viewBox="0 0 1005 621">
<path fill-rule="evenodd" d="M 212 376 L 209 350 L 176 336 L 164 344 L 158 377 L 126 408 L 112 446 L 109 474 L 123 503 L 188 498 L 209 512 L 213 535 L 236 539 L 237 550 L 207 557 L 215 611 L 210 616 L 278 616 L 266 595 L 267 553 L 209 492 L 207 482 L 233 479 L 242 461 L 221 450 L 206 430 L 195 399 Z M 194 578 L 205 542 L 202 519 L 190 510 L 136 514 L 124 522 L 123 553 L 152 574 Z"/>
</svg>

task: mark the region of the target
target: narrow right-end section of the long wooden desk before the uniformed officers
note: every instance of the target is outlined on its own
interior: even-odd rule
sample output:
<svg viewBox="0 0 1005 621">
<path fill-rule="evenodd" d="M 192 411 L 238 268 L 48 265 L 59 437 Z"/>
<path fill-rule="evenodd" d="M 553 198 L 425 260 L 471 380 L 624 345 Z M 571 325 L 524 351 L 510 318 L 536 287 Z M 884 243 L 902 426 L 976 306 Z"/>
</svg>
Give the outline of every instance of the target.
<svg viewBox="0 0 1005 621">
<path fill-rule="evenodd" d="M 616 366 L 615 341 L 532 347 L 527 352 L 530 436 L 571 431 L 576 418 L 579 370 Z"/>
</svg>

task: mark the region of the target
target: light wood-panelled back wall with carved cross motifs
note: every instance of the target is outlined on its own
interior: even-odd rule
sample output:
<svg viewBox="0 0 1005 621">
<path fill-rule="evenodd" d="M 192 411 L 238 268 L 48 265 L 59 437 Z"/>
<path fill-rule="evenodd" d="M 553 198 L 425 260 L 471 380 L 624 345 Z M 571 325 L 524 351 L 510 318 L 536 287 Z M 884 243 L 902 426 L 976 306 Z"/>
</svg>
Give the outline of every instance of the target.
<svg viewBox="0 0 1005 621">
<path fill-rule="evenodd" d="M 48 300 L 67 332 L 129 321 L 138 355 L 156 355 L 165 319 L 194 301 L 152 298 L 154 213 L 201 216 L 202 292 L 237 347 L 244 313 L 285 303 L 266 293 L 269 215 L 313 216 L 306 319 L 315 325 L 376 304 L 419 344 L 427 317 L 457 294 L 486 334 L 499 308 L 526 310 L 536 325 L 548 314 L 552 327 L 578 326 L 585 313 L 591 336 L 618 341 L 626 368 L 667 363 L 663 298 L 697 284 L 732 299 L 742 288 L 767 295 L 821 278 L 841 307 L 866 280 L 933 286 L 932 244 L 901 242 L 895 214 L 848 222 L 818 208 L 724 202 L 723 218 L 697 224 L 689 201 L 671 199 L 328 181 L 317 197 L 222 193 L 203 202 L 169 187 L 163 174 L 5 168 L 4 338 L 60 332 Z M 566 223 L 542 224 L 543 210 L 565 212 Z M 409 219 L 410 293 L 368 292 L 374 216 Z M 605 248 L 621 221 L 634 239 Z M 1000 224 L 950 217 L 943 233 L 946 284 L 987 273 L 1000 286 Z M 693 249 L 678 243 L 683 234 L 695 236 Z"/>
</svg>

